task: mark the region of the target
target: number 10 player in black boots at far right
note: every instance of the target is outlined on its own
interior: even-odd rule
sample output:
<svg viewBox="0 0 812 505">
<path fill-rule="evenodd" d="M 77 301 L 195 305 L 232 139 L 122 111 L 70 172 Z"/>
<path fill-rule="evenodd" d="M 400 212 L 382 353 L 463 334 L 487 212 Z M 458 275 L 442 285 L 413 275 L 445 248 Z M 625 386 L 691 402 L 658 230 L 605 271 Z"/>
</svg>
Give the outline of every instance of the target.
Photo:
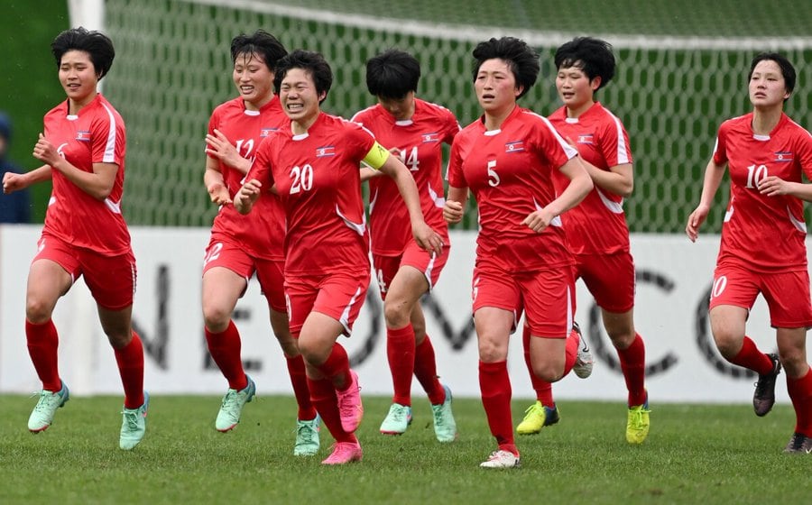
<svg viewBox="0 0 812 505">
<path fill-rule="evenodd" d="M 812 186 L 801 182 L 801 174 L 812 179 L 812 136 L 784 114 L 784 102 L 796 80 L 789 60 L 778 53 L 761 53 L 752 60 L 748 80 L 752 113 L 719 127 L 702 196 L 685 231 L 696 242 L 724 171 L 729 171 L 730 203 L 710 298 L 711 331 L 724 359 L 759 374 L 752 398 L 757 416 L 772 409 L 783 365 L 796 416 L 784 452 L 808 454 L 812 373 L 807 328 L 812 326 L 812 303 L 803 202 L 812 201 Z M 745 335 L 745 322 L 759 293 L 770 309 L 778 354 L 762 353 Z"/>
</svg>

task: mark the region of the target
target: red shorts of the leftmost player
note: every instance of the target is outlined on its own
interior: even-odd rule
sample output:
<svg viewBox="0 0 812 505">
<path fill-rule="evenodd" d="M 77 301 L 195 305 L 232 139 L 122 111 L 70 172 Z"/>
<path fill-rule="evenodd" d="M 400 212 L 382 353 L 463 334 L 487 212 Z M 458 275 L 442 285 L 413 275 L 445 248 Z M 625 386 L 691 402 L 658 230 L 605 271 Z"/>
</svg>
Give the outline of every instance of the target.
<svg viewBox="0 0 812 505">
<path fill-rule="evenodd" d="M 133 250 L 117 256 L 106 256 L 42 234 L 39 252 L 32 262 L 51 260 L 70 274 L 74 282 L 85 277 L 85 284 L 97 304 L 107 310 L 121 310 L 133 305 L 135 296 L 135 256 Z"/>
</svg>

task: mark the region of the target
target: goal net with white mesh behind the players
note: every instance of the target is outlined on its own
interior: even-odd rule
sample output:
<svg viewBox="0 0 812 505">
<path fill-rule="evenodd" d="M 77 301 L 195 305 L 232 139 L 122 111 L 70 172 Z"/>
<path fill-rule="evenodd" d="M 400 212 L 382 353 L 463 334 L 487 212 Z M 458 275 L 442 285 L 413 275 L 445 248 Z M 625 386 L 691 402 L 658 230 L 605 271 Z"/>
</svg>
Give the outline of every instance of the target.
<svg viewBox="0 0 812 505">
<path fill-rule="evenodd" d="M 210 225 L 216 209 L 202 182 L 208 116 L 235 96 L 231 39 L 257 28 L 275 34 L 289 50 L 325 55 L 335 78 L 323 107 L 332 114 L 350 117 L 374 103 L 364 84 L 365 61 L 398 47 L 420 60 L 418 95 L 447 106 L 460 124 L 478 114 L 471 86 L 476 42 L 512 35 L 539 50 L 539 82 L 521 105 L 548 115 L 559 104 L 552 64 L 558 45 L 580 34 L 610 41 L 617 75 L 597 97 L 623 120 L 631 137 L 635 191 L 625 208 L 637 233 L 684 229 L 699 199 L 716 128 L 750 110 L 746 74 L 755 53 L 780 50 L 794 63 L 797 92 L 786 110 L 799 124 L 812 124 L 812 37 L 803 23 L 812 19 L 812 3 L 790 2 L 794 10 L 788 12 L 787 2 L 768 8 L 719 0 L 697 6 L 705 11 L 692 6 L 693 11 L 680 12 L 678 2 L 640 7 L 626 0 L 589 4 L 604 9 L 595 16 L 559 4 L 305 0 L 294 7 L 247 0 L 106 0 L 103 29 L 115 41 L 117 56 L 105 93 L 127 121 L 128 221 Z M 758 12 L 747 11 L 751 4 Z M 638 23 L 630 23 L 623 9 L 635 9 Z M 725 188 L 717 198 L 726 199 Z M 715 208 L 707 232 L 721 227 L 724 209 Z"/>
</svg>

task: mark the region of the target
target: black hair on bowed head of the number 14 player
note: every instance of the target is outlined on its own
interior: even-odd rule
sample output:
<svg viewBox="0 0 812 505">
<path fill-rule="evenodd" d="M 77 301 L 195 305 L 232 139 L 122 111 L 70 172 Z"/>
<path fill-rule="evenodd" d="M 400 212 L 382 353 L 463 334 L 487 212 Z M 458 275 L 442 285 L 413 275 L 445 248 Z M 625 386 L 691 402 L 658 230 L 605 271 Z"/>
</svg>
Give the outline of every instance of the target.
<svg viewBox="0 0 812 505">
<path fill-rule="evenodd" d="M 417 91 L 420 63 L 411 54 L 390 49 L 366 62 L 366 88 L 374 96 L 400 99 Z"/>
</svg>

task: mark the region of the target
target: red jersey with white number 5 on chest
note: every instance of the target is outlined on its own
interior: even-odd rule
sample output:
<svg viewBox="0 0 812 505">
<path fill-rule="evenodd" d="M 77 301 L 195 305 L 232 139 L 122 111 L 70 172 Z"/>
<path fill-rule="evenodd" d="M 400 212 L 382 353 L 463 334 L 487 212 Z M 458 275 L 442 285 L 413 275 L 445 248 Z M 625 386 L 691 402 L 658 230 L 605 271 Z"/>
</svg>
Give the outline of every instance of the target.
<svg viewBox="0 0 812 505">
<path fill-rule="evenodd" d="M 486 131 L 480 118 L 457 133 L 448 183 L 476 198 L 477 262 L 488 258 L 506 271 L 572 264 L 558 217 L 540 234 L 521 222 L 555 199 L 552 172 L 575 156 L 546 118 L 519 106 L 499 130 Z"/>
</svg>

